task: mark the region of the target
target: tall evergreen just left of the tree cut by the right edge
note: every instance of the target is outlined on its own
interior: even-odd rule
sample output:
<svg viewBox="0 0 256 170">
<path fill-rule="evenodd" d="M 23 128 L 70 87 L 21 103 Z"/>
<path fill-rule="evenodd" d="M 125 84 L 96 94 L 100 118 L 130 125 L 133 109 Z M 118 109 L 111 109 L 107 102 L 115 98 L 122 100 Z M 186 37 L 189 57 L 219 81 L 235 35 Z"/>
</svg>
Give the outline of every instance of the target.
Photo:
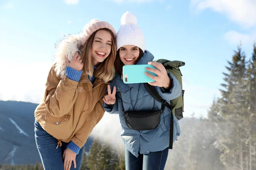
<svg viewBox="0 0 256 170">
<path fill-rule="evenodd" d="M 246 86 L 246 60 L 241 50 L 241 45 L 234 51 L 232 62 L 228 62 L 227 70 L 224 73 L 224 84 L 226 90 L 221 90 L 222 98 L 219 99 L 222 131 L 215 142 L 215 146 L 221 151 L 221 162 L 227 169 L 233 167 L 234 160 L 243 159 L 239 150 L 243 150 L 245 140 L 248 136 L 245 130 L 247 122 L 247 86 Z M 240 161 L 242 163 L 243 161 Z"/>
</svg>

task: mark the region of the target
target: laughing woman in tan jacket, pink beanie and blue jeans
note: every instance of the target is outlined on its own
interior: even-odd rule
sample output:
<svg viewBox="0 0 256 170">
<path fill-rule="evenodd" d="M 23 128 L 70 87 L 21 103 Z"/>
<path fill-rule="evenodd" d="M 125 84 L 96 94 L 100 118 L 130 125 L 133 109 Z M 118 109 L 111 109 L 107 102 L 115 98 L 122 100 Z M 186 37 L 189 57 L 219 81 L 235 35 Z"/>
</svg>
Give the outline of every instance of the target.
<svg viewBox="0 0 256 170">
<path fill-rule="evenodd" d="M 57 45 L 44 99 L 35 109 L 35 141 L 45 170 L 80 169 L 84 144 L 105 113 L 115 37 L 109 23 L 91 20 L 82 34 Z"/>
</svg>

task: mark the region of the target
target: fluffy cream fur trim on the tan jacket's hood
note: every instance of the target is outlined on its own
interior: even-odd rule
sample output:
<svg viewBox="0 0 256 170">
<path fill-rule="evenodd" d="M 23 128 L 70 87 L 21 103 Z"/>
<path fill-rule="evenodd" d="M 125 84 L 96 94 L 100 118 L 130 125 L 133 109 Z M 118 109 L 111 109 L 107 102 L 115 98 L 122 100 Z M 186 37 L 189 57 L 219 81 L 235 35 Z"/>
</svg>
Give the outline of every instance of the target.
<svg viewBox="0 0 256 170">
<path fill-rule="evenodd" d="M 63 78 L 66 74 L 65 57 L 71 61 L 76 52 L 79 52 L 81 55 L 83 46 L 83 34 L 65 36 L 63 40 L 56 44 L 55 48 L 57 48 L 57 51 L 54 55 L 54 63 L 57 76 L 61 76 L 61 78 Z"/>
</svg>

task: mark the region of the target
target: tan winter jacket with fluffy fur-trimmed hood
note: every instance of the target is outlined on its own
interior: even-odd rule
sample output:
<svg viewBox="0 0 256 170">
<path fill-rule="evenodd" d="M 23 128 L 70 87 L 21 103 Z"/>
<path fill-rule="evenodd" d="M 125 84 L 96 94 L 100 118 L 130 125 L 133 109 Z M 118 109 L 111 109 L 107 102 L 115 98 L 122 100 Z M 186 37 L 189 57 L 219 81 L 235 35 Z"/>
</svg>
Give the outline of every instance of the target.
<svg viewBox="0 0 256 170">
<path fill-rule="evenodd" d="M 68 56 L 72 59 L 79 51 L 79 40 L 68 37 L 58 46 L 56 64 L 49 71 L 44 99 L 35 109 L 35 119 L 59 141 L 72 140 L 81 148 L 105 113 L 102 97 L 107 85 L 97 77 L 92 85 L 84 73 L 79 82 L 65 76 L 65 54 L 72 54 Z"/>
</svg>

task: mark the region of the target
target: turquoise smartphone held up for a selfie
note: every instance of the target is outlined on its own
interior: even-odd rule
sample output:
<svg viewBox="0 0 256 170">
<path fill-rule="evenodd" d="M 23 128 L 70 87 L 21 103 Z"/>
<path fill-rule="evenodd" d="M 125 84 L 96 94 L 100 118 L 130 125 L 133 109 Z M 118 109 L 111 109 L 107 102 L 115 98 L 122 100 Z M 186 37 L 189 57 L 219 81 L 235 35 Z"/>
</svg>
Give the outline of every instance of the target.
<svg viewBox="0 0 256 170">
<path fill-rule="evenodd" d="M 157 76 L 156 74 L 146 71 L 145 68 L 155 68 L 152 65 L 144 64 L 144 65 L 124 65 L 123 66 L 123 82 L 125 84 L 131 83 L 144 83 L 144 82 L 154 82 L 153 79 L 149 78 L 145 75 L 145 72 L 152 74 L 153 76 Z"/>
</svg>

